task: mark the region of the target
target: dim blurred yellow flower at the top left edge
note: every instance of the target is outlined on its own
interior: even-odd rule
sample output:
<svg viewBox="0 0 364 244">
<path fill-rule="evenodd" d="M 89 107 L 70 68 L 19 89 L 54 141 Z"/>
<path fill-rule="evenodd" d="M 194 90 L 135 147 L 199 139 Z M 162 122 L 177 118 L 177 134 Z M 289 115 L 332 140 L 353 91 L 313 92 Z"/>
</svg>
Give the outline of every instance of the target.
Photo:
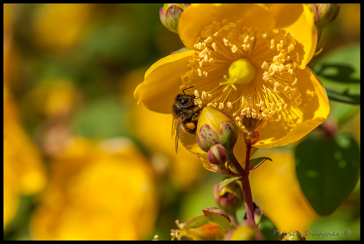
<svg viewBox="0 0 364 244">
<path fill-rule="evenodd" d="M 62 51 L 70 48 L 85 31 L 92 4 L 41 4 L 33 33 L 37 45 Z"/>
</svg>

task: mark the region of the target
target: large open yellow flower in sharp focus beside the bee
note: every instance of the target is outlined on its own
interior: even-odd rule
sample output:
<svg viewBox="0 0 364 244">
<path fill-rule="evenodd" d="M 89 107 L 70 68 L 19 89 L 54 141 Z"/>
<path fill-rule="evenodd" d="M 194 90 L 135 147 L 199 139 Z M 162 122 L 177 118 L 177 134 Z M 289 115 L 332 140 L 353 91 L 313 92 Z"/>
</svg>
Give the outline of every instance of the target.
<svg viewBox="0 0 364 244">
<path fill-rule="evenodd" d="M 138 104 L 170 113 L 173 98 L 194 86 L 198 106 L 217 107 L 233 118 L 242 109 L 263 120 L 257 148 L 297 141 L 327 118 L 325 89 L 306 67 L 317 44 L 309 4 L 191 4 L 178 33 L 189 51 L 147 70 L 134 91 Z M 182 144 L 201 153 L 187 134 L 180 131 Z"/>
</svg>

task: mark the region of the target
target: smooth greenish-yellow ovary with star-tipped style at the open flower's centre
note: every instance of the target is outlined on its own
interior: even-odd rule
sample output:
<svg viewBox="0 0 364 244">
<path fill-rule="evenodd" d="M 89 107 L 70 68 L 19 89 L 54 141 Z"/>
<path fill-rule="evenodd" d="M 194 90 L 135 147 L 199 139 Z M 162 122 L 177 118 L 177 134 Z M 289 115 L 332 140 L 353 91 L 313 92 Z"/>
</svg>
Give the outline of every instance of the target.
<svg viewBox="0 0 364 244">
<path fill-rule="evenodd" d="M 220 82 L 219 85 L 226 85 L 222 91 L 226 91 L 229 86 L 237 90 L 235 83 L 246 85 L 252 82 L 255 76 L 255 67 L 246 58 L 240 58 L 232 62 L 229 66 L 229 78 L 223 76 L 225 82 Z"/>
</svg>

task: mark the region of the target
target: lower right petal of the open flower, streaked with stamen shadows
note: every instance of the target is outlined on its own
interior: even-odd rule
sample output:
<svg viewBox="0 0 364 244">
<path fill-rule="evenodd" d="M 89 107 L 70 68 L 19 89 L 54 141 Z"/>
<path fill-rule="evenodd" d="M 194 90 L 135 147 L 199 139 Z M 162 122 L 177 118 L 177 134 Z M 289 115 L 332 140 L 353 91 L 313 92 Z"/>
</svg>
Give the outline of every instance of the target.
<svg viewBox="0 0 364 244">
<path fill-rule="evenodd" d="M 302 94 L 301 105 L 293 109 L 288 103 L 287 109 L 281 112 L 279 122 L 268 122 L 265 127 L 259 127 L 259 141 L 255 147 L 284 146 L 298 141 L 327 119 L 329 100 L 316 74 L 308 67 L 296 69 L 295 73 Z"/>
</svg>

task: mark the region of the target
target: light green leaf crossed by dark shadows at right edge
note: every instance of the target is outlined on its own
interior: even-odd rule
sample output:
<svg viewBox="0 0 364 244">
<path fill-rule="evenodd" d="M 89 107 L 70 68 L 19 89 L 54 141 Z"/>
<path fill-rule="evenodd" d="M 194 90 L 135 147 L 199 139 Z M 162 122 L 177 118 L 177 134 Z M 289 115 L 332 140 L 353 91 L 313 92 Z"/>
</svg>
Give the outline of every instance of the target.
<svg viewBox="0 0 364 244">
<path fill-rule="evenodd" d="M 360 104 L 360 44 L 336 49 L 311 67 L 330 99 Z"/>
</svg>

